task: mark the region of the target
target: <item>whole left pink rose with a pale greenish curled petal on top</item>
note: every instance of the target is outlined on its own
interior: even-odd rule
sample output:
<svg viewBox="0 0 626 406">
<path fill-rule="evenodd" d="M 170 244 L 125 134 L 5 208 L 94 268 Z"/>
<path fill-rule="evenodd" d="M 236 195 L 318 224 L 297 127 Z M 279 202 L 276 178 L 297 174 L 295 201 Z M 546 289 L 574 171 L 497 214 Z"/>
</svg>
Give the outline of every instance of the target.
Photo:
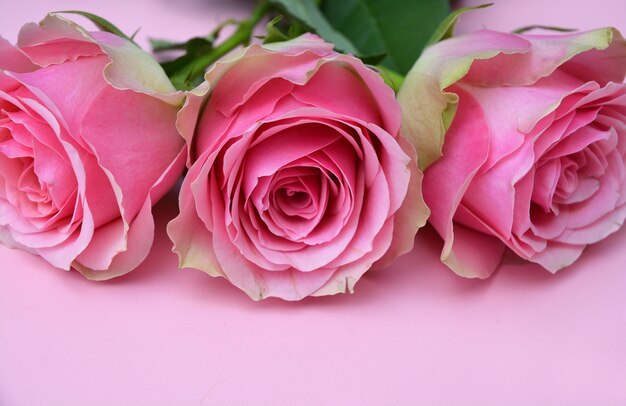
<svg viewBox="0 0 626 406">
<path fill-rule="evenodd" d="M 134 269 L 184 166 L 181 98 L 134 44 L 56 15 L 0 38 L 0 240 L 89 279 Z"/>
</svg>

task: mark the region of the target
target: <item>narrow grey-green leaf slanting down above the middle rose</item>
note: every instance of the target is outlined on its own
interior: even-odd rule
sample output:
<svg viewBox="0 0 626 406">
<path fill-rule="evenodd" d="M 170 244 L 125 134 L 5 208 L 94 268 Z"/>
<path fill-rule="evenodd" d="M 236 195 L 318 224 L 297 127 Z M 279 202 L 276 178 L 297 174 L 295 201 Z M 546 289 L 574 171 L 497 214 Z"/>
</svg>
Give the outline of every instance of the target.
<svg viewBox="0 0 626 406">
<path fill-rule="evenodd" d="M 270 0 L 291 17 L 307 25 L 319 36 L 335 44 L 341 52 L 357 54 L 357 48 L 328 22 L 314 0 Z"/>
</svg>

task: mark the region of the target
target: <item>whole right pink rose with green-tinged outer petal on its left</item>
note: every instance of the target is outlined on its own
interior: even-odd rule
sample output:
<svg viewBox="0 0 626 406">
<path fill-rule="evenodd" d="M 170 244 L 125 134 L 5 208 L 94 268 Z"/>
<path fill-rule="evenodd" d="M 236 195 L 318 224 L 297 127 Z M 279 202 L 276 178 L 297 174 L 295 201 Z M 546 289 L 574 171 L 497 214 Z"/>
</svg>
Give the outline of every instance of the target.
<svg viewBox="0 0 626 406">
<path fill-rule="evenodd" d="M 611 28 L 480 31 L 425 51 L 399 100 L 420 163 L 436 161 L 424 196 L 444 263 L 485 278 L 508 247 L 556 272 L 621 227 L 625 74 Z"/>
</svg>

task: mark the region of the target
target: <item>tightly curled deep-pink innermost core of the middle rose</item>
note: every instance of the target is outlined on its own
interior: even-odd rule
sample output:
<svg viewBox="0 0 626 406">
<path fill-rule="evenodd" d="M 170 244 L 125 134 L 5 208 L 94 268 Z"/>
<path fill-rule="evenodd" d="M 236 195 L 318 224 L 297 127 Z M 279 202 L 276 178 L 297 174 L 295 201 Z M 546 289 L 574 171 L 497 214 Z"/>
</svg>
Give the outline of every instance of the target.
<svg viewBox="0 0 626 406">
<path fill-rule="evenodd" d="M 300 147 L 306 147 L 307 138 L 321 136 L 323 140 L 324 133 L 335 141 L 298 150 L 298 153 L 281 147 L 281 143 L 300 141 L 303 141 Z M 356 163 L 353 147 L 344 138 L 337 137 L 327 125 L 303 124 L 284 128 L 250 149 L 245 173 L 247 179 L 257 179 L 257 183 L 252 186 L 248 182 L 250 186 L 245 186 L 244 182 L 244 191 L 252 198 L 256 214 L 262 219 L 257 224 L 264 223 L 273 234 L 305 244 L 328 241 L 338 234 L 350 212 L 351 199 L 345 198 L 344 189 L 353 188 Z M 271 162 L 263 161 L 264 157 L 271 156 L 268 151 L 273 151 L 269 154 L 285 152 L 278 162 L 281 169 L 276 168 L 279 165 L 269 168 L 258 165 Z M 298 156 L 301 157 L 296 158 Z"/>
</svg>

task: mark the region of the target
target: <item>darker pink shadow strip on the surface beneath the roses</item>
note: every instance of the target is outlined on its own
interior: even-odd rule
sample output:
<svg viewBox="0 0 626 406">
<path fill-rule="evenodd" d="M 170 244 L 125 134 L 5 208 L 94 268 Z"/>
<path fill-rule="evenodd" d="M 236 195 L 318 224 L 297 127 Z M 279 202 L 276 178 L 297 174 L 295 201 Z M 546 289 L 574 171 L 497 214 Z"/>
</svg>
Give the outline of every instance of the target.
<svg viewBox="0 0 626 406">
<path fill-rule="evenodd" d="M 147 260 L 135 271 L 122 277 L 99 282 L 102 289 L 153 289 L 156 294 L 176 295 L 184 300 L 205 303 L 211 307 L 219 304 L 261 312 L 276 311 L 328 311 L 356 307 L 376 307 L 381 302 L 397 302 L 401 307 L 407 300 L 428 302 L 433 296 L 445 296 L 460 305 L 466 301 L 481 300 L 481 297 L 506 289 L 509 294 L 525 296 L 556 289 L 568 279 L 576 278 L 581 272 L 596 268 L 598 258 L 610 255 L 626 242 L 626 232 L 618 232 L 605 241 L 591 246 L 582 258 L 555 275 L 533 264 L 505 264 L 486 280 L 466 279 L 455 275 L 441 264 L 439 255 L 442 242 L 429 226 L 418 233 L 415 248 L 398 258 L 391 266 L 367 272 L 357 283 L 354 294 L 339 294 L 327 297 L 309 297 L 300 302 L 286 302 L 268 298 L 254 302 L 230 285 L 223 278 L 211 278 L 202 271 L 178 269 L 177 256 L 171 252 L 172 243 L 166 225 L 177 213 L 176 192 L 166 195 L 155 208 L 155 243 Z M 601 270 L 599 270 L 601 271 Z M 72 279 L 83 279 L 72 272 Z M 78 282 L 78 281 L 77 281 Z M 78 283 L 94 283 L 83 280 Z"/>
</svg>

